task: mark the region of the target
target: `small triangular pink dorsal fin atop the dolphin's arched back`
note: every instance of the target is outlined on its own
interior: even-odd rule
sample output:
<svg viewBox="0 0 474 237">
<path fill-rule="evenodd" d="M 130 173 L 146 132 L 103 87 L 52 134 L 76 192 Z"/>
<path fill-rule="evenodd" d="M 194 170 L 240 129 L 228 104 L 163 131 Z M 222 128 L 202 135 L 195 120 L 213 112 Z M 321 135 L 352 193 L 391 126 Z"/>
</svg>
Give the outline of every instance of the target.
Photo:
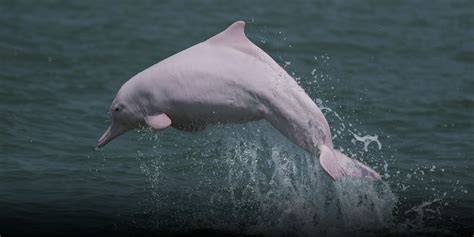
<svg viewBox="0 0 474 237">
<path fill-rule="evenodd" d="M 236 21 L 221 33 L 208 40 L 210 43 L 223 44 L 234 47 L 253 45 L 245 36 L 245 22 Z"/>
</svg>

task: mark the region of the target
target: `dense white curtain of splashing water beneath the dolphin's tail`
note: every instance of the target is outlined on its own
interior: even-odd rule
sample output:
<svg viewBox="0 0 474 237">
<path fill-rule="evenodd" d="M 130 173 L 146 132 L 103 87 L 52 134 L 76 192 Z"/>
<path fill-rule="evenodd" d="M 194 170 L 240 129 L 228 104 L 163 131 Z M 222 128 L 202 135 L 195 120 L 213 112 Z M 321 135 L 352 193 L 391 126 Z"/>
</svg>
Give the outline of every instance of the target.
<svg viewBox="0 0 474 237">
<path fill-rule="evenodd" d="M 259 156 L 263 144 L 234 138 L 226 141 L 240 144 L 231 146 L 237 148 L 226 156 L 232 198 L 236 204 L 247 200 L 257 203 L 258 218 L 247 227 L 249 233 L 341 234 L 391 225 L 396 198 L 386 186 L 363 179 L 333 183 L 315 157 L 282 143 L 283 137 L 274 134 L 263 140 L 274 144 L 267 157 Z M 243 183 L 247 185 L 240 190 Z M 250 195 L 242 199 L 242 193 Z"/>
</svg>

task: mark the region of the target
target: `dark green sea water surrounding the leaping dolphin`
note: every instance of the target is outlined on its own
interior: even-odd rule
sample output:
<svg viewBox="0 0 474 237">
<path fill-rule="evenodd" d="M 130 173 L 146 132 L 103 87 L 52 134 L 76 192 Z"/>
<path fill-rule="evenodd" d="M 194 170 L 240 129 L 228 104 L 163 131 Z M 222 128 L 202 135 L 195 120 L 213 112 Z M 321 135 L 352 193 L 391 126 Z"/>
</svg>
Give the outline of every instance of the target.
<svg viewBox="0 0 474 237">
<path fill-rule="evenodd" d="M 0 235 L 472 236 L 473 3 L 3 0 Z M 265 122 L 94 148 L 125 81 L 235 20 L 384 184 L 331 182 Z"/>
</svg>

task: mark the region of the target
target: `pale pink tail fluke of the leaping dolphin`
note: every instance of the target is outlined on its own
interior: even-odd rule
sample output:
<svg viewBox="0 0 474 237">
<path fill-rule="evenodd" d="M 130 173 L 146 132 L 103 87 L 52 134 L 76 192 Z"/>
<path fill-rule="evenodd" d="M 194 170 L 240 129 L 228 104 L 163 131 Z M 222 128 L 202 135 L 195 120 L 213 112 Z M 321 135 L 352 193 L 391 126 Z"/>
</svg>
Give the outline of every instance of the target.
<svg viewBox="0 0 474 237">
<path fill-rule="evenodd" d="M 373 169 L 327 145 L 319 146 L 319 151 L 321 153 L 319 156 L 321 167 L 334 180 L 342 176 L 380 179 L 380 175 Z"/>
</svg>

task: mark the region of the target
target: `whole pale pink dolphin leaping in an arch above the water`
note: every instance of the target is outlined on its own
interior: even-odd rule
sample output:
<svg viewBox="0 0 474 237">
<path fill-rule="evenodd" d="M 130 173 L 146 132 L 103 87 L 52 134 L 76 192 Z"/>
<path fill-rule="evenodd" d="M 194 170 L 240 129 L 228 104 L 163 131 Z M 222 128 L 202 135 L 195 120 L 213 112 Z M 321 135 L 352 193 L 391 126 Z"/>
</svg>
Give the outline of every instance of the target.
<svg viewBox="0 0 474 237">
<path fill-rule="evenodd" d="M 318 156 L 334 180 L 380 175 L 334 149 L 328 122 L 305 91 L 244 33 L 237 21 L 214 37 L 138 73 L 118 91 L 112 124 L 99 139 L 145 124 L 186 131 L 206 124 L 265 119 L 290 141 Z"/>
</svg>

